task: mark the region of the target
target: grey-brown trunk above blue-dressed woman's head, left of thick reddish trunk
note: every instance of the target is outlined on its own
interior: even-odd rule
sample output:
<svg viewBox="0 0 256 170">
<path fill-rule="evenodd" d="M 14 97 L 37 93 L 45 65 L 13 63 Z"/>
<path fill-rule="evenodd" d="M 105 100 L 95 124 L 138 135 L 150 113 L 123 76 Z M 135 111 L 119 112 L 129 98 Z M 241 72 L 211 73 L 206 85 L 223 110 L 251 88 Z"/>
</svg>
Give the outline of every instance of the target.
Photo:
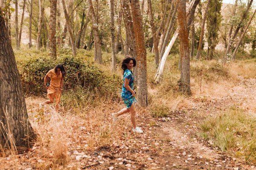
<svg viewBox="0 0 256 170">
<path fill-rule="evenodd" d="M 136 41 L 134 33 L 134 21 L 131 18 L 131 11 L 129 0 L 121 0 L 121 6 L 123 11 L 123 18 L 125 22 L 126 42 L 125 42 L 125 55 L 129 50 L 130 55 L 137 59 L 136 53 Z M 134 81 L 137 82 L 137 67 L 134 68 Z"/>
</svg>

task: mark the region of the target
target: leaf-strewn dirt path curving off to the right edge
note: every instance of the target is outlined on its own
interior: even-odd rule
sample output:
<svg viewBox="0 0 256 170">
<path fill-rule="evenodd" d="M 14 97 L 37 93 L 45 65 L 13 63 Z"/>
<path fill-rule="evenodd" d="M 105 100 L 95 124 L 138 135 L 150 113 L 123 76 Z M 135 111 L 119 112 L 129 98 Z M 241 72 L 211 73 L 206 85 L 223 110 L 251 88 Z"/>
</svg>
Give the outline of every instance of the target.
<svg viewBox="0 0 256 170">
<path fill-rule="evenodd" d="M 191 108 L 182 108 L 169 118 L 143 120 L 143 134 L 128 132 L 122 143 L 98 147 L 91 152 L 70 150 L 83 169 L 183 169 L 183 170 L 249 170 L 243 161 L 225 155 L 196 135 L 198 126 L 208 115 L 226 111 L 230 106 L 246 107 L 255 101 L 255 79 L 244 80 L 228 89 L 228 95 L 218 99 L 191 100 Z M 128 118 L 127 118 L 128 119 Z M 152 125 L 154 124 L 154 125 Z M 80 132 L 79 132 L 80 133 Z M 80 157 L 80 158 L 79 158 Z"/>
</svg>

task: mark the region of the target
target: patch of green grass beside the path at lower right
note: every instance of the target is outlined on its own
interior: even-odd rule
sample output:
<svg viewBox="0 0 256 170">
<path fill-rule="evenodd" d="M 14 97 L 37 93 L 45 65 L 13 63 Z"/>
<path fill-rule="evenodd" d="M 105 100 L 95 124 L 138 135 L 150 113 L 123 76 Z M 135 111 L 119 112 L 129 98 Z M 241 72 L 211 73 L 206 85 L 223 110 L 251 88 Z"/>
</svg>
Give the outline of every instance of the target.
<svg viewBox="0 0 256 170">
<path fill-rule="evenodd" d="M 233 153 L 248 163 L 256 162 L 256 117 L 243 110 L 230 108 L 225 113 L 207 118 L 198 136 L 223 152 Z"/>
</svg>

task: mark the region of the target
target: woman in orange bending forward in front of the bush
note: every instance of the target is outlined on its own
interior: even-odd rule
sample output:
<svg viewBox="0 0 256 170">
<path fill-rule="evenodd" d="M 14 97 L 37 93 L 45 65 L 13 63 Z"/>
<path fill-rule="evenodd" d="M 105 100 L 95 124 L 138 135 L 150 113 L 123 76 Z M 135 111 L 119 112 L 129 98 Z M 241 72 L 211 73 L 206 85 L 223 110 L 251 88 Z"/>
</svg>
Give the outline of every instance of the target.
<svg viewBox="0 0 256 170">
<path fill-rule="evenodd" d="M 47 89 L 47 97 L 49 100 L 46 100 L 43 103 L 39 103 L 39 108 L 41 108 L 43 105 L 53 103 L 55 98 L 55 110 L 58 112 L 59 104 L 61 101 L 61 91 L 63 88 L 63 79 L 65 75 L 66 71 L 62 64 L 58 64 L 55 66 L 55 68 L 48 71 L 44 77 L 44 87 Z M 49 86 L 46 85 L 48 77 L 51 78 Z"/>
</svg>

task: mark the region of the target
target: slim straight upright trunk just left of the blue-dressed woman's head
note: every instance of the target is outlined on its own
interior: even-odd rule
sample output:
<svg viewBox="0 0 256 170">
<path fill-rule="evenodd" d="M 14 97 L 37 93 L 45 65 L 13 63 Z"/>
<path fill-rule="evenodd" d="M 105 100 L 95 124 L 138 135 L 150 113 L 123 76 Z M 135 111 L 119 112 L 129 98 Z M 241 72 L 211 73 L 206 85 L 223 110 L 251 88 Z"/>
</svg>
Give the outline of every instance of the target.
<svg viewBox="0 0 256 170">
<path fill-rule="evenodd" d="M 110 31 L 111 31 L 111 55 L 112 55 L 112 71 L 116 71 L 116 41 L 115 41 L 115 3 L 114 0 L 110 0 Z"/>
</svg>

